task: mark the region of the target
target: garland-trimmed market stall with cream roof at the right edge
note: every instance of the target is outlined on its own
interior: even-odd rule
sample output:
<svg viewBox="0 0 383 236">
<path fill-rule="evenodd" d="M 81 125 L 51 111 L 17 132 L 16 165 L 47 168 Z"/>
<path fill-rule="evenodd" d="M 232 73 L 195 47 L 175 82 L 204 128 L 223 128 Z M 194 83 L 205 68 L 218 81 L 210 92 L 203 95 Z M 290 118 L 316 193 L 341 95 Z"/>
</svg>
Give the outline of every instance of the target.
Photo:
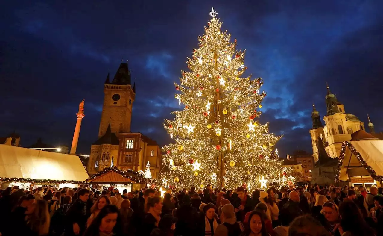
<svg viewBox="0 0 383 236">
<path fill-rule="evenodd" d="M 351 141 L 344 142 L 340 149 L 336 180 L 348 181 L 354 187 L 381 187 L 383 141 L 363 130 L 353 133 Z"/>
</svg>

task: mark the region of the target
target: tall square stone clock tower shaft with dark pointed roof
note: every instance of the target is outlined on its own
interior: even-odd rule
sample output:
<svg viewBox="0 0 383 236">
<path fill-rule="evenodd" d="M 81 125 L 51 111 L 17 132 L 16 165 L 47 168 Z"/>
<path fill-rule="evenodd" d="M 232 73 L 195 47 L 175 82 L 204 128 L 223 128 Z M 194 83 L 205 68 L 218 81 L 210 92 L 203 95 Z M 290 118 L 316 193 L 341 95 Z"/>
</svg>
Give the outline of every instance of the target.
<svg viewBox="0 0 383 236">
<path fill-rule="evenodd" d="M 129 133 L 132 107 L 136 95 L 136 84 L 131 86 L 128 63 L 121 63 L 115 77 L 110 81 L 109 74 L 104 84 L 104 103 L 101 113 L 98 138 L 102 137 L 110 125 L 111 133 Z"/>
</svg>

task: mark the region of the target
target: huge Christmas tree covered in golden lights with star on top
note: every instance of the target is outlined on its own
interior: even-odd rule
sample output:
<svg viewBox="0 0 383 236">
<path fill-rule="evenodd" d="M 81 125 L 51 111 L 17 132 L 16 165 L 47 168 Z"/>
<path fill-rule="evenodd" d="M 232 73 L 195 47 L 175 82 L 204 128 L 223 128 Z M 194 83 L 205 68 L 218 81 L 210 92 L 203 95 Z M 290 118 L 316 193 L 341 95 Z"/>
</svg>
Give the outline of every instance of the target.
<svg viewBox="0 0 383 236">
<path fill-rule="evenodd" d="M 175 98 L 184 109 L 173 112 L 175 120 L 165 120 L 175 143 L 162 148 L 170 171 L 160 178 L 177 189 L 212 184 L 254 190 L 265 178 L 279 181 L 286 172 L 271 153 L 280 137 L 258 121 L 266 96 L 260 92 L 263 80 L 242 77 L 245 51 L 237 51 L 237 39 L 231 43 L 231 35 L 221 31 L 217 13 L 210 15 L 200 48 L 188 58 L 189 71 L 175 83 Z"/>
</svg>

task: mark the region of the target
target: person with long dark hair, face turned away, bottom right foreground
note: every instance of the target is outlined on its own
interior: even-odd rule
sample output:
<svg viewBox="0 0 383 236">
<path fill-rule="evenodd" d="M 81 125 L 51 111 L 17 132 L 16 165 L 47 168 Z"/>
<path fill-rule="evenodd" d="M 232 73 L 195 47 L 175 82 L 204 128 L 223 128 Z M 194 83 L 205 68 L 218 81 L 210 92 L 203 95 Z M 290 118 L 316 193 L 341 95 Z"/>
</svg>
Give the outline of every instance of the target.
<svg viewBox="0 0 383 236">
<path fill-rule="evenodd" d="M 340 226 L 342 236 L 374 236 L 375 231 L 363 219 L 358 206 L 352 201 L 344 201 L 339 206 Z"/>
</svg>

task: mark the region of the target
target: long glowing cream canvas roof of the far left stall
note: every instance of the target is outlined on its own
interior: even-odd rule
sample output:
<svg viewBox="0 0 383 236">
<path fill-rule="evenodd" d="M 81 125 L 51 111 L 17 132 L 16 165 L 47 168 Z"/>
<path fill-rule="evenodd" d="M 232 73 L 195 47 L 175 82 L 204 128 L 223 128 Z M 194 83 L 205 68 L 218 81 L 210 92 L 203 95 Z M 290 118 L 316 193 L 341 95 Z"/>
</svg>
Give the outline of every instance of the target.
<svg viewBox="0 0 383 236">
<path fill-rule="evenodd" d="M 0 144 L 0 178 L 85 181 L 78 156 Z"/>
</svg>

